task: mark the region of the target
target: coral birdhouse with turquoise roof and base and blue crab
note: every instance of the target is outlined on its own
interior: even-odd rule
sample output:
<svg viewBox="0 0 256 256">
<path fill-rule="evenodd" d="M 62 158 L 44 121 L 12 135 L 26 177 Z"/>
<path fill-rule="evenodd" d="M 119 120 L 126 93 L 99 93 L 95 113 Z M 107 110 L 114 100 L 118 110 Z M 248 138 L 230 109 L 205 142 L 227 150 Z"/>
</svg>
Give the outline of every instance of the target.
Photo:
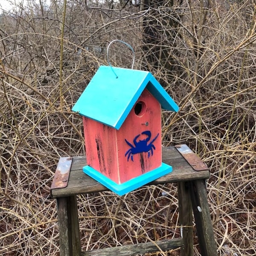
<svg viewBox="0 0 256 256">
<path fill-rule="evenodd" d="M 161 108 L 179 109 L 151 73 L 99 67 L 72 109 L 83 116 L 83 171 L 118 195 L 172 172 L 162 163 Z"/>
</svg>

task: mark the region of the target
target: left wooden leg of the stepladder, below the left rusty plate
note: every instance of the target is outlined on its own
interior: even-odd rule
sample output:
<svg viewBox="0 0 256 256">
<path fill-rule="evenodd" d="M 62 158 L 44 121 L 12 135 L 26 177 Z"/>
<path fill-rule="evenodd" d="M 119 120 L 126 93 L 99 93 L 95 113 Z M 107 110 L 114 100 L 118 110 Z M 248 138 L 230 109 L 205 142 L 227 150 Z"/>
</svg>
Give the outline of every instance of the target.
<svg viewBox="0 0 256 256">
<path fill-rule="evenodd" d="M 57 198 L 57 204 L 60 256 L 80 256 L 81 241 L 76 195 Z"/>
</svg>

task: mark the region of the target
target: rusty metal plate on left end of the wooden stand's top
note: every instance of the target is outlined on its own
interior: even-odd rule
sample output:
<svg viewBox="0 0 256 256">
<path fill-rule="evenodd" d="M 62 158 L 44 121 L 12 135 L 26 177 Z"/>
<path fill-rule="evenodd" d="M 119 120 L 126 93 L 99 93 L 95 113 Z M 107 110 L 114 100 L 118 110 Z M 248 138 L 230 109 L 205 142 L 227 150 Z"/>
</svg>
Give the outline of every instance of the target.
<svg viewBox="0 0 256 256">
<path fill-rule="evenodd" d="M 68 178 L 70 175 L 70 169 L 72 164 L 72 157 L 61 157 L 55 175 L 52 180 L 52 189 L 65 188 L 68 183 Z"/>
</svg>

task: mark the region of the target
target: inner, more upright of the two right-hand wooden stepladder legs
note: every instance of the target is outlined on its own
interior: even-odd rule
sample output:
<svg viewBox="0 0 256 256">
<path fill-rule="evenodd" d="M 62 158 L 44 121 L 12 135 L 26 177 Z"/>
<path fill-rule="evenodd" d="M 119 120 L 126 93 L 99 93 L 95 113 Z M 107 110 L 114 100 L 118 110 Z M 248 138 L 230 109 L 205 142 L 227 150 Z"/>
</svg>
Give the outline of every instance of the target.
<svg viewBox="0 0 256 256">
<path fill-rule="evenodd" d="M 193 256 L 193 215 L 188 182 L 178 182 L 179 224 L 182 226 L 184 247 L 181 256 Z"/>
</svg>

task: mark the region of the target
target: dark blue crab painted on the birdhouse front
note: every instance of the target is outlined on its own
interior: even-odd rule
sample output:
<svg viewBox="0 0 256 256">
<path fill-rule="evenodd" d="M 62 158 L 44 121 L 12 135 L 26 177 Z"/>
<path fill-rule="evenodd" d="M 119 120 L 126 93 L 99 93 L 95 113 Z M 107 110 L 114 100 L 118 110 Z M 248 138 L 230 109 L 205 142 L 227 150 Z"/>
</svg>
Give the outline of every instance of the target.
<svg viewBox="0 0 256 256">
<path fill-rule="evenodd" d="M 148 137 L 144 140 L 137 141 L 138 137 L 140 137 L 141 134 L 145 134 Z M 130 157 L 131 157 L 131 160 L 133 161 L 134 154 L 138 154 L 141 152 L 148 152 L 148 157 L 150 157 L 150 151 L 151 151 L 151 156 L 153 155 L 153 148 L 156 149 L 155 146 L 153 145 L 153 142 L 157 139 L 159 134 L 157 134 L 157 136 L 154 137 L 154 139 L 151 140 L 151 142 L 149 143 L 148 141 L 151 138 L 151 132 L 143 131 L 141 134 L 134 137 L 134 140 L 133 140 L 134 145 L 132 145 L 131 143 L 128 142 L 128 140 L 125 139 L 125 142 L 131 147 L 125 153 L 125 157 L 128 155 L 127 161 L 129 161 Z"/>
</svg>

